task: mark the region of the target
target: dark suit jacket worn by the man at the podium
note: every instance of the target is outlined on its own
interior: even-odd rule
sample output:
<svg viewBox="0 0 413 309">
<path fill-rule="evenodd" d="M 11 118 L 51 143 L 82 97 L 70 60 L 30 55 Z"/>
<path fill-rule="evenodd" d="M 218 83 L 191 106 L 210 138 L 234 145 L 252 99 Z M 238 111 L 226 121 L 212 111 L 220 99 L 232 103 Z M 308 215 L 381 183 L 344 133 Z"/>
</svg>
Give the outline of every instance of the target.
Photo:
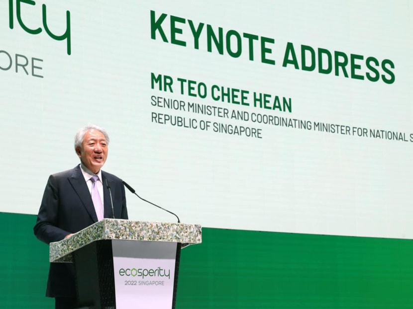
<svg viewBox="0 0 413 309">
<path fill-rule="evenodd" d="M 104 218 L 113 218 L 106 179 L 112 193 L 114 217 L 128 219 L 122 180 L 102 171 Z M 49 244 L 96 222 L 98 217 L 80 165 L 50 175 L 33 229 L 36 237 Z M 46 296 L 76 296 L 72 263 L 50 263 Z"/>
</svg>

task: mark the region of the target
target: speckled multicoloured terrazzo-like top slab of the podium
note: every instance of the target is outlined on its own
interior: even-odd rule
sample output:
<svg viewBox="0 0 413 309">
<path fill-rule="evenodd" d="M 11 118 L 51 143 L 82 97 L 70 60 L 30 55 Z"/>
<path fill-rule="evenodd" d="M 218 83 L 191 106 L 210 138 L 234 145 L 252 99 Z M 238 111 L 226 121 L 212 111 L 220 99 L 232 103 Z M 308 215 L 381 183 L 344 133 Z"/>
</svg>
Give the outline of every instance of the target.
<svg viewBox="0 0 413 309">
<path fill-rule="evenodd" d="M 71 237 L 50 243 L 50 262 L 73 262 L 72 252 L 101 239 L 181 242 L 182 247 L 202 242 L 201 226 L 183 223 L 103 219 Z"/>
</svg>

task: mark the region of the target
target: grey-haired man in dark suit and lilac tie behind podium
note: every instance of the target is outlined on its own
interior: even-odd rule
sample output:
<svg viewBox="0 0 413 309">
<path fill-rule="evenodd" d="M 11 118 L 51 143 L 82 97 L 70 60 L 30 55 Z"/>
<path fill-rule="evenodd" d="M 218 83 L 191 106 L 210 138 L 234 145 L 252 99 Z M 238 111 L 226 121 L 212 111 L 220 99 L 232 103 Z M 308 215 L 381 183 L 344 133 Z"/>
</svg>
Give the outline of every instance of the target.
<svg viewBox="0 0 413 309">
<path fill-rule="evenodd" d="M 103 128 L 89 125 L 78 131 L 75 151 L 81 163 L 49 177 L 33 229 L 38 239 L 47 244 L 62 240 L 103 217 L 128 219 L 122 180 L 101 170 L 108 143 L 109 137 Z M 98 177 L 96 181 L 92 180 L 93 176 Z M 106 181 L 110 186 L 114 213 Z M 94 194 L 94 190 L 97 191 L 93 199 L 91 192 Z M 50 263 L 46 296 L 56 299 L 56 309 L 77 307 L 72 263 Z"/>
</svg>

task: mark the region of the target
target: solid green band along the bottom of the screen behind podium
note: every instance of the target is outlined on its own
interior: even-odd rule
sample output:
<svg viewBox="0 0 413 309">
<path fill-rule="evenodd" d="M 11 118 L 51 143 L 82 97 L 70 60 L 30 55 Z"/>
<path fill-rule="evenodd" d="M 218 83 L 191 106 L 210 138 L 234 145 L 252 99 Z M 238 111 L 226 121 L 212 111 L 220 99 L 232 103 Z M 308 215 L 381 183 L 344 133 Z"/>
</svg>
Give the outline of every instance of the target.
<svg viewBox="0 0 413 309">
<path fill-rule="evenodd" d="M 0 213 L 0 308 L 53 308 L 35 216 Z M 177 309 L 413 308 L 413 241 L 203 229 L 181 255 Z"/>
</svg>

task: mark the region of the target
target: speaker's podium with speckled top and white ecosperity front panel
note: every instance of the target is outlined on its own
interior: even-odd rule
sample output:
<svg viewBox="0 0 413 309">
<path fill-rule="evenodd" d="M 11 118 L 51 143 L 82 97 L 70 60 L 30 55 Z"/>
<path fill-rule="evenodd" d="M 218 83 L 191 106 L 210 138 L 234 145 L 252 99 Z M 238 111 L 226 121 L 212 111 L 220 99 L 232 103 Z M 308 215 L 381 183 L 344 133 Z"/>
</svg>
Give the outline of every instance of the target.
<svg viewBox="0 0 413 309">
<path fill-rule="evenodd" d="M 82 309 L 174 309 L 181 248 L 200 225 L 103 219 L 50 243 L 50 262 L 74 263 Z"/>
</svg>

